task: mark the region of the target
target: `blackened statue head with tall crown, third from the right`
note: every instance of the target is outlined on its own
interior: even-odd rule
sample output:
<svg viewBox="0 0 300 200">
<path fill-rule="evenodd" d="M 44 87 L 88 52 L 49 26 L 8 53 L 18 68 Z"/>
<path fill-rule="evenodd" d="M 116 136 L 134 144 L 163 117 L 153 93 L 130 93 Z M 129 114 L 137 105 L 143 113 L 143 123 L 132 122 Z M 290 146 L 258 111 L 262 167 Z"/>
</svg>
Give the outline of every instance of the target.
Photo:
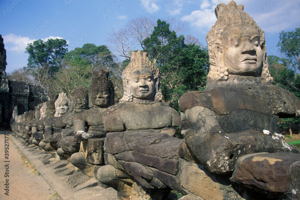
<svg viewBox="0 0 300 200">
<path fill-rule="evenodd" d="M 88 88 L 89 107 L 108 108 L 115 104 L 115 88 L 108 78 L 109 72 L 93 71 L 93 80 Z"/>
</svg>

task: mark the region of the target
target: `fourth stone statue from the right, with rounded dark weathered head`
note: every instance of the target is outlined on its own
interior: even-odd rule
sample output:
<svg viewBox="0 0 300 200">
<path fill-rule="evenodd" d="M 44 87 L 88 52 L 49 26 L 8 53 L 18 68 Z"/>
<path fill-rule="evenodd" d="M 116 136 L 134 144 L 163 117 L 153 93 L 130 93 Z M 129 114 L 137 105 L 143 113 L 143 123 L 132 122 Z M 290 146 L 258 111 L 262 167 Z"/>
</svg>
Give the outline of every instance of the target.
<svg viewBox="0 0 300 200">
<path fill-rule="evenodd" d="M 69 111 L 57 118 L 53 125 L 53 141 L 60 143 L 57 154 L 68 158 L 72 152 L 79 151 L 79 144 L 74 143 L 73 118 L 77 113 L 88 109 L 88 89 L 78 86 L 70 95 Z M 75 145 L 75 146 L 74 146 Z"/>
</svg>

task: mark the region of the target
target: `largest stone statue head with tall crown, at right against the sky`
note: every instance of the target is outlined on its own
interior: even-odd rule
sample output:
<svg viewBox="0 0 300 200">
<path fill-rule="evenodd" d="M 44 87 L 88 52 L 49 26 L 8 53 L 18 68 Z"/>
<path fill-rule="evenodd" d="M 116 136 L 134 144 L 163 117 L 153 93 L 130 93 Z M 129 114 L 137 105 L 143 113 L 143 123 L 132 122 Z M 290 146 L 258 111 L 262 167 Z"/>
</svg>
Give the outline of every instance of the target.
<svg viewBox="0 0 300 200">
<path fill-rule="evenodd" d="M 265 34 L 243 5 L 230 1 L 215 8 L 217 21 L 206 36 L 210 69 L 208 78 L 227 80 L 230 75 L 259 77 L 269 85 L 272 78 L 266 58 Z"/>
</svg>

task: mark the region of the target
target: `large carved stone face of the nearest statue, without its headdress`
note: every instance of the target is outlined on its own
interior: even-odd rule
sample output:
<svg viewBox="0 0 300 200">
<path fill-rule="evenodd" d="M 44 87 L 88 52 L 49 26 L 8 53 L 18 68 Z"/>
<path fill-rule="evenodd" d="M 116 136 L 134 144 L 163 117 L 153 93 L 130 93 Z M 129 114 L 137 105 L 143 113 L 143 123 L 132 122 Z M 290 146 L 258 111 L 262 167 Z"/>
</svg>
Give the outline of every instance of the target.
<svg viewBox="0 0 300 200">
<path fill-rule="evenodd" d="M 224 35 L 223 60 L 229 74 L 255 76 L 262 70 L 259 32 L 253 27 L 233 27 Z"/>
</svg>

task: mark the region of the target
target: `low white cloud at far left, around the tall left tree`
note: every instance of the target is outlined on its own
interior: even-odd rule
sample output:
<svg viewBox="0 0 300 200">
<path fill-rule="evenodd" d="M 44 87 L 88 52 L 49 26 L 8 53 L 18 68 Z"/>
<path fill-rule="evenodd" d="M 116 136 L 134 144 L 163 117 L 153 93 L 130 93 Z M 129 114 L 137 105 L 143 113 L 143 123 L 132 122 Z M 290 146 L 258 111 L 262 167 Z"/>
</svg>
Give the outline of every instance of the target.
<svg viewBox="0 0 300 200">
<path fill-rule="evenodd" d="M 13 33 L 10 33 L 10 34 L 7 34 L 7 35 L 4 35 L 2 36 L 3 37 L 3 42 L 4 42 L 4 45 L 5 45 L 5 49 L 7 51 L 15 51 L 17 52 L 18 54 L 19 53 L 24 53 L 25 50 L 26 50 L 26 46 L 27 44 L 29 43 L 33 43 L 35 41 L 35 39 L 29 39 L 29 37 L 22 37 L 20 35 L 15 35 Z M 47 37 L 45 39 L 42 39 L 44 41 L 47 41 L 49 39 L 63 39 L 62 37 L 53 37 L 53 36 L 50 36 L 50 37 Z M 69 41 L 67 41 L 67 44 L 69 44 Z"/>
</svg>

